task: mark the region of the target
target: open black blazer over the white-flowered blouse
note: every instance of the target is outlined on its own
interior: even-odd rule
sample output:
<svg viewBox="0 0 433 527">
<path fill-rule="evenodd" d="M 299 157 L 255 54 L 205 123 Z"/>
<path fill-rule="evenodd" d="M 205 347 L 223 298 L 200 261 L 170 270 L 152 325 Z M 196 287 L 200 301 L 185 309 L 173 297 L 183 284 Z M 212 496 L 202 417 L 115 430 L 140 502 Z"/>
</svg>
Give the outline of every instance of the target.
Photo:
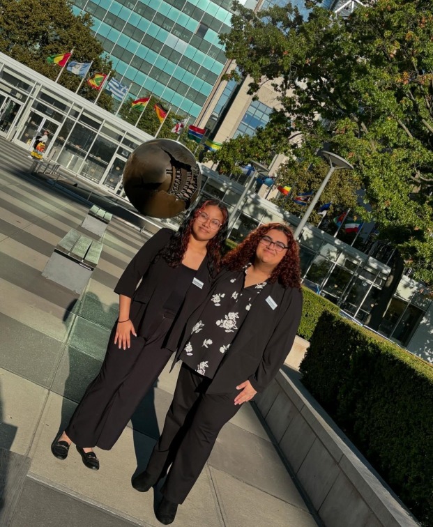
<svg viewBox="0 0 433 527">
<path fill-rule="evenodd" d="M 238 275 L 238 271 L 223 270 L 218 275 L 206 302 L 210 301 L 212 294 L 218 289 L 220 280 L 230 280 L 235 275 Z M 275 309 L 270 304 L 274 305 Z M 191 312 L 190 316 L 179 314 L 182 319 L 188 321 L 178 342 L 174 362 L 179 360 L 178 356 L 190 338 L 192 327 L 200 319 L 204 305 L 206 303 Z M 236 333 L 230 350 L 222 359 L 206 393 L 232 392 L 238 384 L 247 379 L 257 392 L 263 392 L 274 379 L 291 350 L 301 314 L 302 293 L 299 289 L 293 287 L 285 289 L 278 282 L 267 284 L 252 303 L 245 321 Z M 176 349 L 177 343 L 174 342 L 176 335 L 169 337 L 167 347 L 170 349 Z"/>
</svg>

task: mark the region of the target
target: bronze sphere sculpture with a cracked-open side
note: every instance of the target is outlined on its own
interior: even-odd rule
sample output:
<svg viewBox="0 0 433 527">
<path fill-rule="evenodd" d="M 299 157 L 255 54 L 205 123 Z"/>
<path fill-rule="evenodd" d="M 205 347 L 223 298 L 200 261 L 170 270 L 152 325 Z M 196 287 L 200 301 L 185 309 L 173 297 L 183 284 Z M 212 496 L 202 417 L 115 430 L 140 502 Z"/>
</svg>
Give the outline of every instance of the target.
<svg viewBox="0 0 433 527">
<path fill-rule="evenodd" d="M 202 174 L 194 154 L 172 139 L 151 139 L 137 146 L 123 171 L 123 188 L 137 211 L 174 217 L 197 199 Z"/>
</svg>

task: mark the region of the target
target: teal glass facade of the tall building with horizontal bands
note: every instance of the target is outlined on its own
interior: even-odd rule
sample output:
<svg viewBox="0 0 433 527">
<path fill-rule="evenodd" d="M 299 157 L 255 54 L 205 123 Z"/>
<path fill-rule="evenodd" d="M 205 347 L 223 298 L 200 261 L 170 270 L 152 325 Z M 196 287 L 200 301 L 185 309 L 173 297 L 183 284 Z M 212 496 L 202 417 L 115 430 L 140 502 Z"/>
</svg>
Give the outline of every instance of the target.
<svg viewBox="0 0 433 527">
<path fill-rule="evenodd" d="M 231 0 L 74 0 L 134 98 L 153 93 L 173 111 L 199 115 L 226 63 L 219 33 Z"/>
</svg>

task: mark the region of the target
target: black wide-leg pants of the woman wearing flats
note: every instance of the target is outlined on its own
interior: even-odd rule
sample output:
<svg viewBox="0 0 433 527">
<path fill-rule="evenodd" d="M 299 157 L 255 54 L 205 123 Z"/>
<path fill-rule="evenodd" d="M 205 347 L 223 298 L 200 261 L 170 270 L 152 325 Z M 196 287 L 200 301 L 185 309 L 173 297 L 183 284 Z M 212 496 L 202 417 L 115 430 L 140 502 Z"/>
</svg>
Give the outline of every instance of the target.
<svg viewBox="0 0 433 527">
<path fill-rule="evenodd" d="M 116 327 L 113 328 L 100 372 L 89 384 L 66 428 L 73 443 L 82 448 L 113 447 L 172 354 L 162 348 L 172 322 L 163 319 L 147 341 L 131 335 L 129 349 L 119 349 L 114 344 Z"/>
</svg>

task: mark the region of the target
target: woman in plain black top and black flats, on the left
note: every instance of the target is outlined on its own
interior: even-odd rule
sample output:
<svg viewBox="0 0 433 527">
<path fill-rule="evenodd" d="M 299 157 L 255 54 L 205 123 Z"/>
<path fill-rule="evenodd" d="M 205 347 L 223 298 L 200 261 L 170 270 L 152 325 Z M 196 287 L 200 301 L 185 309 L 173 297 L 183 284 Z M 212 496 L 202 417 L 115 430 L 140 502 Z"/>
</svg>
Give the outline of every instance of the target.
<svg viewBox="0 0 433 527">
<path fill-rule="evenodd" d="M 167 335 L 178 339 L 206 298 L 220 270 L 227 218 L 220 202 L 204 201 L 177 232 L 161 229 L 130 261 L 114 289 L 119 319 L 105 360 L 68 427 L 52 443 L 55 457 L 66 459 L 73 442 L 84 465 L 98 470 L 93 447 L 110 450 L 116 443 L 172 354 L 165 347 Z"/>
</svg>

